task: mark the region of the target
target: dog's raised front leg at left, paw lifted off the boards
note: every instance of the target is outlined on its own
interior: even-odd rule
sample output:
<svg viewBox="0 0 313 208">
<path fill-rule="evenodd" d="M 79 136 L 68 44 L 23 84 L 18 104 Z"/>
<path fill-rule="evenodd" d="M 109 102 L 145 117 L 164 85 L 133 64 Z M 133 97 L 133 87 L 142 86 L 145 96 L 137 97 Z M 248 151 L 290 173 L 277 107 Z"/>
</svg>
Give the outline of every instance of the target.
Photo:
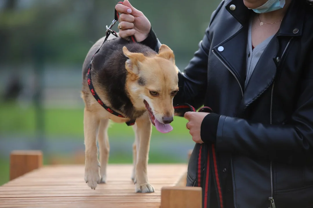
<svg viewBox="0 0 313 208">
<path fill-rule="evenodd" d="M 85 181 L 91 189 L 95 189 L 100 182 L 97 132 L 99 118 L 95 113 L 84 109 L 84 136 L 85 136 Z"/>
</svg>

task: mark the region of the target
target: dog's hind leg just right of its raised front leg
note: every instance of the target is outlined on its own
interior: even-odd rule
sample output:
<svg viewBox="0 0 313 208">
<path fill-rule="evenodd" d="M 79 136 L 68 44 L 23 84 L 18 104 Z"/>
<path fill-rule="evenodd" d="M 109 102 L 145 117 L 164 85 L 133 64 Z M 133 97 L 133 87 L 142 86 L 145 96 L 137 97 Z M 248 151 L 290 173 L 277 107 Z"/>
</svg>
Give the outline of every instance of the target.
<svg viewBox="0 0 313 208">
<path fill-rule="evenodd" d="M 108 136 L 109 123 L 109 119 L 101 119 L 98 132 L 101 183 L 106 182 L 106 166 L 108 164 L 110 154 L 110 144 Z"/>
</svg>

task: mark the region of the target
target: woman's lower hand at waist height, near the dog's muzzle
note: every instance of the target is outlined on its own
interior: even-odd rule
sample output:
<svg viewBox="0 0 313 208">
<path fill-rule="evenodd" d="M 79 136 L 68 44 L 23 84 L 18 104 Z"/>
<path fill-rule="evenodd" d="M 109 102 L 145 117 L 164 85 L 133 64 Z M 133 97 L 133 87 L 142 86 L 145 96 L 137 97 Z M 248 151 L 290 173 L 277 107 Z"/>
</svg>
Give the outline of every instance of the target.
<svg viewBox="0 0 313 208">
<path fill-rule="evenodd" d="M 186 128 L 189 129 L 189 133 L 192 136 L 192 140 L 195 143 L 203 143 L 201 139 L 201 123 L 206 115 L 209 113 L 203 112 L 186 112 L 184 114 L 185 119 L 188 120 Z"/>
</svg>

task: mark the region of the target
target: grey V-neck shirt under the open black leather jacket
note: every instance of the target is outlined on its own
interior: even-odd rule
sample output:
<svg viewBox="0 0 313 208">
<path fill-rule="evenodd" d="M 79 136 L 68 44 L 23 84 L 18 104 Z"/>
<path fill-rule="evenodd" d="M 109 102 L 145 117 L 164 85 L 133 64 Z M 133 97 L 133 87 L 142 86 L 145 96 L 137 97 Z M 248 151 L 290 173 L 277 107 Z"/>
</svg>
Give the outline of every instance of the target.
<svg viewBox="0 0 313 208">
<path fill-rule="evenodd" d="M 254 67 L 259 61 L 259 58 L 261 57 L 263 51 L 265 50 L 266 46 L 269 44 L 269 41 L 274 37 L 274 35 L 269 36 L 266 40 L 261 42 L 259 45 L 257 45 L 253 50 L 252 50 L 252 39 L 251 39 L 251 30 L 252 30 L 252 19 L 250 19 L 249 22 L 249 31 L 248 31 L 248 44 L 247 44 L 247 78 L 245 81 L 245 87 L 247 87 L 248 82 L 250 80 L 250 77 L 253 73 Z"/>
</svg>

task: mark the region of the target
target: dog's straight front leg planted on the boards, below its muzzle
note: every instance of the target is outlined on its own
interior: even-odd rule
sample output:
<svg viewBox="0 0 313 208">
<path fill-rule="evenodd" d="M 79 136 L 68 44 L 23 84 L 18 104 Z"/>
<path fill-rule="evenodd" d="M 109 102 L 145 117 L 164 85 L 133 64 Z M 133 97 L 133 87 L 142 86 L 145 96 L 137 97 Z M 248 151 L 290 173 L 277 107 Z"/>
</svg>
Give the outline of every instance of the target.
<svg viewBox="0 0 313 208">
<path fill-rule="evenodd" d="M 136 120 L 136 136 L 138 137 L 138 139 L 136 139 L 136 192 L 154 192 L 154 188 L 149 184 L 147 176 L 148 155 L 152 131 L 151 125 L 147 113 Z"/>
</svg>

